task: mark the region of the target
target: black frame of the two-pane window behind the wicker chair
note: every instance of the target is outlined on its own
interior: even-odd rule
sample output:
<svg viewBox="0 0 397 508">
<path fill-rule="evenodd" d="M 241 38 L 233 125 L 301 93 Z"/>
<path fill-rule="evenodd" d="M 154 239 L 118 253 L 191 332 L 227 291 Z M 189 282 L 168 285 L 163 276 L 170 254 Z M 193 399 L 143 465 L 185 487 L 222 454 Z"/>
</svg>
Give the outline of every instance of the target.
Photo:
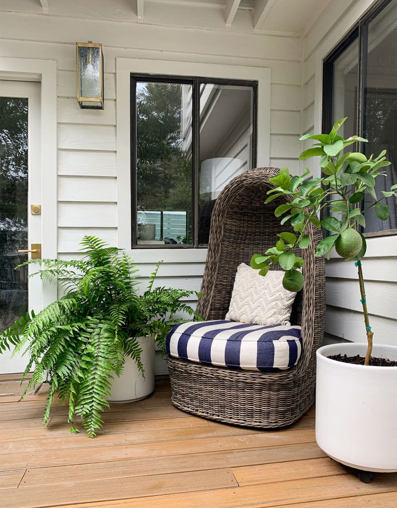
<svg viewBox="0 0 397 508">
<path fill-rule="evenodd" d="M 192 86 L 192 244 L 159 244 L 144 245 L 137 242 L 137 116 L 136 116 L 136 84 L 137 82 L 179 83 Z M 225 86 L 251 86 L 253 89 L 253 130 L 252 130 L 252 167 L 256 168 L 258 153 L 258 81 L 245 79 L 206 78 L 199 76 L 174 76 L 164 74 L 130 74 L 130 158 L 131 158 L 131 248 L 207 248 L 207 244 L 198 243 L 198 212 L 199 212 L 199 157 L 200 157 L 200 85 L 216 84 Z"/>
</svg>

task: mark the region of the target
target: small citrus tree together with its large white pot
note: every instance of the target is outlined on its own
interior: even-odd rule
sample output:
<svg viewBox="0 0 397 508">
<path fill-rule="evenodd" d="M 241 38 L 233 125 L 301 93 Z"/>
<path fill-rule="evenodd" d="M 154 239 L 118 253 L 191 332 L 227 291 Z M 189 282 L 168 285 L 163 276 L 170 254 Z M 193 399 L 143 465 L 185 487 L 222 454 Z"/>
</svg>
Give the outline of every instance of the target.
<svg viewBox="0 0 397 508">
<path fill-rule="evenodd" d="M 317 246 L 315 256 L 328 256 L 333 248 L 357 268 L 366 340 L 352 336 L 351 343 L 331 344 L 317 351 L 316 438 L 331 458 L 364 471 L 397 471 L 397 347 L 373 343 L 362 270 L 367 244 L 361 231 L 365 229 L 365 211 L 375 208 L 381 220 L 389 216 L 385 203 L 397 196 L 397 185 L 378 194 L 377 178 L 386 174 L 386 151 L 367 158 L 359 152 L 347 151 L 357 136 L 344 139 L 338 131 L 346 118 L 333 126 L 329 134 L 305 135 L 314 146 L 299 158 L 319 157 L 321 176 L 289 174 L 288 168 L 270 181 L 266 203 L 287 196 L 287 202 L 276 210 L 281 226 L 290 223 L 295 234 L 280 231 L 279 240 L 263 255 L 255 255 L 251 266 L 266 275 L 269 267 L 279 264 L 285 270 L 283 285 L 287 290 L 303 288 L 304 262 L 296 248 L 307 248 L 309 223 L 324 228 L 329 234 Z M 371 204 L 367 205 L 372 198 Z M 320 212 L 322 219 L 320 220 Z M 303 271 L 301 270 L 303 268 Z M 304 337 L 303 337 L 304 340 Z M 357 342 L 358 341 L 358 342 Z M 397 345 L 397 339 L 396 339 Z"/>
</svg>

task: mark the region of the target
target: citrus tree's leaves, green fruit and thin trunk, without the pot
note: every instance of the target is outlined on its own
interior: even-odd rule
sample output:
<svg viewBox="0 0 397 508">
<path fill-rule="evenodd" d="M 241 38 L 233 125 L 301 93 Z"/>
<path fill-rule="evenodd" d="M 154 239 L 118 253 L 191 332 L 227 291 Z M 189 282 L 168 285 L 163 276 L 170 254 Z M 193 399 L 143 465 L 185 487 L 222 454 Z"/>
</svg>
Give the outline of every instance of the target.
<svg viewBox="0 0 397 508">
<path fill-rule="evenodd" d="M 283 286 L 289 291 L 300 291 L 304 278 L 300 268 L 304 260 L 296 256 L 294 249 L 298 246 L 306 249 L 310 244 L 307 226 L 312 223 L 315 227 L 323 227 L 329 232 L 317 246 L 316 257 L 330 254 L 333 247 L 338 254 L 347 261 L 353 261 L 358 270 L 361 303 L 364 314 L 365 329 L 367 331 L 368 351 L 365 365 L 369 365 L 372 352 L 373 332 L 370 327 L 367 300 L 365 298 L 364 281 L 362 276 L 361 259 L 365 255 L 367 244 L 360 233 L 360 226 L 365 228 L 364 212 L 370 208 L 380 220 L 387 220 L 389 207 L 384 200 L 397 196 L 397 184 L 390 189 L 377 194 L 375 181 L 385 176 L 382 168 L 389 166 L 386 161 L 386 150 L 377 157 L 367 158 L 359 152 L 346 151 L 346 147 L 366 139 L 352 136 L 344 139 L 338 131 L 347 118 L 337 121 L 329 134 L 306 134 L 300 140 L 315 141 L 314 147 L 304 150 L 299 159 L 304 161 L 310 157 L 320 157 L 319 165 L 324 176 L 309 178 L 309 169 L 302 176 L 290 176 L 288 168 L 281 168 L 279 174 L 270 178 L 274 188 L 268 190 L 265 203 L 282 196 L 287 201 L 274 210 L 276 217 L 280 217 L 280 225 L 290 223 L 296 234 L 281 232 L 276 245 L 269 248 L 263 255 L 256 254 L 251 260 L 252 268 L 258 269 L 261 275 L 266 275 L 270 266 L 279 264 L 285 270 Z M 372 202 L 367 206 L 367 200 Z M 323 218 L 320 221 L 319 215 Z"/>
</svg>

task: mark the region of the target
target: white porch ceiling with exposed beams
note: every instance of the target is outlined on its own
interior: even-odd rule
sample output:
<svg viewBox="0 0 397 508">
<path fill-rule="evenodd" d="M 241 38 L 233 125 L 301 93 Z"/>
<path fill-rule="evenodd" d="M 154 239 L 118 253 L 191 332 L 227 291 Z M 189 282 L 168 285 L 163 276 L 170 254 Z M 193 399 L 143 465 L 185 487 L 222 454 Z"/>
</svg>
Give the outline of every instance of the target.
<svg viewBox="0 0 397 508">
<path fill-rule="evenodd" d="M 1 9 L 212 30 L 306 34 L 330 0 L 2 0 Z"/>
</svg>

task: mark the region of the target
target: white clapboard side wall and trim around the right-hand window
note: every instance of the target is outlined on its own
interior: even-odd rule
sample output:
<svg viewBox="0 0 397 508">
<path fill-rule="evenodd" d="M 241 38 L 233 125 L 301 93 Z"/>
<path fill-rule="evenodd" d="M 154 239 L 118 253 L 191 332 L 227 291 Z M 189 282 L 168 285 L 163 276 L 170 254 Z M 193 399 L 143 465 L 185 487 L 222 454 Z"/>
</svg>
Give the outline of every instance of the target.
<svg viewBox="0 0 397 508">
<path fill-rule="evenodd" d="M 321 132 L 322 61 L 338 44 L 372 0 L 335 0 L 302 41 L 302 133 Z M 311 145 L 301 143 L 301 149 Z M 318 167 L 310 168 L 318 173 Z M 363 260 L 367 303 L 374 340 L 397 344 L 397 237 L 369 238 Z M 325 331 L 336 337 L 366 340 L 357 269 L 337 255 L 326 264 L 327 313 Z"/>
</svg>

